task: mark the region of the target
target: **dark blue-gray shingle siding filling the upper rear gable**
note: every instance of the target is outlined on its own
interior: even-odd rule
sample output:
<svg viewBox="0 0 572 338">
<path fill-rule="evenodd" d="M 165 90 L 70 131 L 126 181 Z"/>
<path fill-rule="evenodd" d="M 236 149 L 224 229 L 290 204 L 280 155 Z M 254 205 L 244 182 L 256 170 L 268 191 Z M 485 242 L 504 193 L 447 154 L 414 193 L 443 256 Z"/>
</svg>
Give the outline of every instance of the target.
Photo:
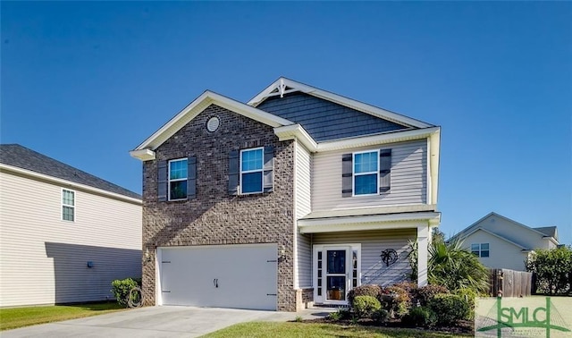
<svg viewBox="0 0 572 338">
<path fill-rule="evenodd" d="M 407 129 L 400 124 L 300 92 L 284 97 L 269 97 L 257 108 L 300 123 L 317 142 Z"/>
</svg>

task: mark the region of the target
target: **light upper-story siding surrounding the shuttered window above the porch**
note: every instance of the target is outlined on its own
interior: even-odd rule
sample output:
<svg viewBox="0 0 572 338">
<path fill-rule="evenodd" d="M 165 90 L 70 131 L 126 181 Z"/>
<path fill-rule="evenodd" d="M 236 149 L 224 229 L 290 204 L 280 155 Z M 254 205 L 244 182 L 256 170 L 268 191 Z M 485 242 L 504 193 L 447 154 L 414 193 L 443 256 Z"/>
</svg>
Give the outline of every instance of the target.
<svg viewBox="0 0 572 338">
<path fill-rule="evenodd" d="M 391 148 L 391 189 L 374 196 L 341 197 L 342 154 Z M 312 171 L 312 211 L 350 207 L 425 204 L 427 200 L 427 141 L 316 153 Z"/>
</svg>

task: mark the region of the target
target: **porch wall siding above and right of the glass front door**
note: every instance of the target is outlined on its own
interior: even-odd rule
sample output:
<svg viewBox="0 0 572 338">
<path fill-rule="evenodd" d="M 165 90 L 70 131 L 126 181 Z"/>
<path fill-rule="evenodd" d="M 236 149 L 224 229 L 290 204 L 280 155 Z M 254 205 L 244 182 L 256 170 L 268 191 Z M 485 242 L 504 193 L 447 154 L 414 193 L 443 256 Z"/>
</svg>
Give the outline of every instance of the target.
<svg viewBox="0 0 572 338">
<path fill-rule="evenodd" d="M 402 231 L 329 232 L 315 233 L 313 244 L 361 243 L 361 283 L 390 285 L 408 279 L 411 268 L 408 263 L 408 240 L 416 239 L 416 229 Z M 381 254 L 384 249 L 394 249 L 398 260 L 385 266 Z"/>
</svg>

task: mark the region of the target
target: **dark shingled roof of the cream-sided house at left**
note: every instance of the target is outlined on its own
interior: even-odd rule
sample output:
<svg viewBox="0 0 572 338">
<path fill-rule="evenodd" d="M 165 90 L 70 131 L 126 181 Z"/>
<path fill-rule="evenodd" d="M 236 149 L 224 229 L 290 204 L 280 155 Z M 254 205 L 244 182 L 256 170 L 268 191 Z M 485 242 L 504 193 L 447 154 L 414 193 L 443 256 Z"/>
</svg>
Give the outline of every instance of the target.
<svg viewBox="0 0 572 338">
<path fill-rule="evenodd" d="M 0 145 L 0 164 L 21 168 L 29 172 L 41 173 L 61 180 L 76 182 L 92 188 L 113 192 L 115 194 L 141 199 L 138 193 L 107 182 L 90 173 L 66 165 L 54 158 L 42 155 L 19 144 Z M 5 166 L 4 166 L 5 168 Z"/>
</svg>

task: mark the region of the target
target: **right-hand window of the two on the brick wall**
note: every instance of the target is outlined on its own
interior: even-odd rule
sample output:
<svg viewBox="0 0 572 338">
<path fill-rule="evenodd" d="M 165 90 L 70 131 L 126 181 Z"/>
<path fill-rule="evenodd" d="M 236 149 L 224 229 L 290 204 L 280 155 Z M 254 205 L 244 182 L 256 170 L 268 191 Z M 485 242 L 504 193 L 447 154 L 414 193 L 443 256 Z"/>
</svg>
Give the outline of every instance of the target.
<svg viewBox="0 0 572 338">
<path fill-rule="evenodd" d="M 240 150 L 240 193 L 263 192 L 264 148 Z"/>
</svg>

